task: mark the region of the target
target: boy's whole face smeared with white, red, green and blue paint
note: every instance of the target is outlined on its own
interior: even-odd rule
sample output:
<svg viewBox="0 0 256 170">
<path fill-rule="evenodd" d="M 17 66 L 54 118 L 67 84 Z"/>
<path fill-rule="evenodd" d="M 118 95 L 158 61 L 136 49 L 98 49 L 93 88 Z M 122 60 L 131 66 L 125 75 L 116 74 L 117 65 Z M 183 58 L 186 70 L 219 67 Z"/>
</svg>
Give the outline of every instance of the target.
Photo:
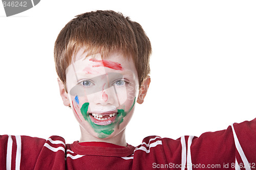
<svg viewBox="0 0 256 170">
<path fill-rule="evenodd" d="M 80 126 L 97 138 L 123 131 L 134 112 L 138 75 L 132 60 L 113 53 L 85 57 L 80 50 L 66 69 L 67 90 Z"/>
</svg>

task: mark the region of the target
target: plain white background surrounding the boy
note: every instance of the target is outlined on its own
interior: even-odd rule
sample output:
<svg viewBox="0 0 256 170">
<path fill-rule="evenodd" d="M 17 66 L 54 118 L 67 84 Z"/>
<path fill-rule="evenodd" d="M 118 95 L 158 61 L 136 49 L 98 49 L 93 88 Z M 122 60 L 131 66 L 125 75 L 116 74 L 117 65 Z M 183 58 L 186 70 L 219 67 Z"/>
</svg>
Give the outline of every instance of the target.
<svg viewBox="0 0 256 170">
<path fill-rule="evenodd" d="M 6 17 L 0 5 L 0 134 L 79 140 L 53 60 L 75 15 L 114 10 L 139 22 L 153 47 L 152 83 L 126 141 L 226 129 L 256 113 L 255 1 L 50 1 Z"/>
</svg>

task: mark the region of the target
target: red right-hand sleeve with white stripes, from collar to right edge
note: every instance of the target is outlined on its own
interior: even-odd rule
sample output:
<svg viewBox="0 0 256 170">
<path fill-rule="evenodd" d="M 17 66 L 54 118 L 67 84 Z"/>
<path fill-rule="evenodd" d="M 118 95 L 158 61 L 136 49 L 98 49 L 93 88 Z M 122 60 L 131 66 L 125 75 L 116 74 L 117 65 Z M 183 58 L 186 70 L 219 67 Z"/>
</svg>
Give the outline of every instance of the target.
<svg viewBox="0 0 256 170">
<path fill-rule="evenodd" d="M 148 136 L 136 147 L 136 168 L 256 169 L 256 119 L 176 140 Z M 130 157 L 129 157 L 130 158 Z M 135 168 L 135 169 L 136 169 Z"/>
</svg>

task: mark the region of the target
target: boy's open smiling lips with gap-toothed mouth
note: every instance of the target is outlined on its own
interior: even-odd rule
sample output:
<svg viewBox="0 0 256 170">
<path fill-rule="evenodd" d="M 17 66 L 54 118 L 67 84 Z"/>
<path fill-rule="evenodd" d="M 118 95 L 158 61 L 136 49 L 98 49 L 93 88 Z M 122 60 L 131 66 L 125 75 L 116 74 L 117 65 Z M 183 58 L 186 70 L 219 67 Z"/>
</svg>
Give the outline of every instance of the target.
<svg viewBox="0 0 256 170">
<path fill-rule="evenodd" d="M 96 125 L 109 125 L 112 124 L 114 122 L 114 120 L 116 119 L 116 115 L 118 113 L 90 113 L 89 116 L 92 120 L 92 122 Z"/>
</svg>

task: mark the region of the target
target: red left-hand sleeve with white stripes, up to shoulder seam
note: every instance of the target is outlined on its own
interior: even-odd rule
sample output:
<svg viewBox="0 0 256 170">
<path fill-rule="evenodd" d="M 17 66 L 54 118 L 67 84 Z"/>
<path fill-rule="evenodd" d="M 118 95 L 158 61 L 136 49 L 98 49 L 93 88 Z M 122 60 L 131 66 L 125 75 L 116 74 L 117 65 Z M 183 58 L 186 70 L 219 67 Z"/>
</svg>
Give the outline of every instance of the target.
<svg viewBox="0 0 256 170">
<path fill-rule="evenodd" d="M 65 140 L 0 135 L 0 169 L 65 169 Z"/>
</svg>

